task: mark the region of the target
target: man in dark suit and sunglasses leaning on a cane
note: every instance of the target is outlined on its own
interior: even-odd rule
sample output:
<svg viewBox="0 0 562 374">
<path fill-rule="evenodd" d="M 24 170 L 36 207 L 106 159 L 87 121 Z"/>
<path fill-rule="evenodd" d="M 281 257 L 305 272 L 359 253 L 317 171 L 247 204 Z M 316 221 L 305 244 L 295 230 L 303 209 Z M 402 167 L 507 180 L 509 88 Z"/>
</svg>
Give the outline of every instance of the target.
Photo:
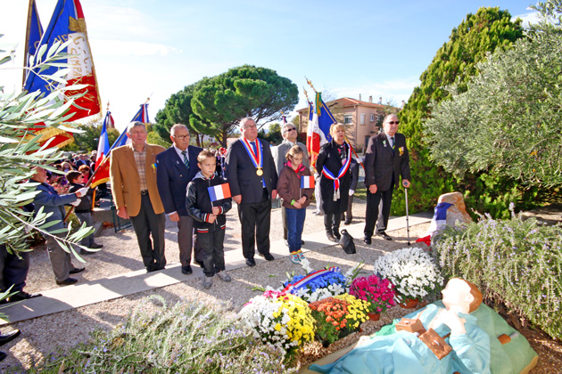
<svg viewBox="0 0 562 374">
<path fill-rule="evenodd" d="M 393 190 L 399 188 L 399 177 L 402 185 L 409 188 L 409 155 L 406 137 L 398 134 L 398 117 L 389 114 L 384 118 L 384 133 L 375 135 L 368 140 L 365 155 L 365 186 L 367 187 L 367 212 L 365 222 L 365 238 L 371 244 L 371 236 L 376 234 L 385 240 L 393 240 L 386 234 L 388 216 L 390 215 Z M 382 216 L 378 218 L 378 206 L 382 201 Z M 382 222 L 381 222 L 382 221 Z"/>
</svg>

